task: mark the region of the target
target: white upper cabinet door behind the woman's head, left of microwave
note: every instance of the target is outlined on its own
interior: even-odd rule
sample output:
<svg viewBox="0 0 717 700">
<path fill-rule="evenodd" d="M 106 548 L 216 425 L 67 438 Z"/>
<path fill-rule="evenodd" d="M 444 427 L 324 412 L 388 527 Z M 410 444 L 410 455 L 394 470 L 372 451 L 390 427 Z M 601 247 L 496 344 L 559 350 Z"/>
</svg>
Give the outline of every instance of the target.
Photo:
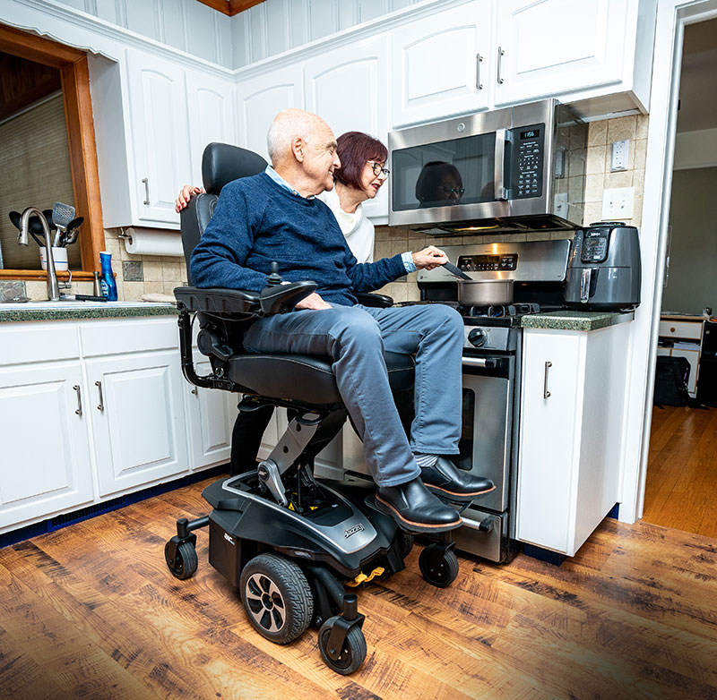
<svg viewBox="0 0 717 700">
<path fill-rule="evenodd" d="M 307 110 L 338 137 L 365 132 L 388 140 L 386 38 L 369 38 L 309 59 L 304 67 Z M 388 191 L 363 203 L 367 217 L 388 216 Z"/>
</svg>

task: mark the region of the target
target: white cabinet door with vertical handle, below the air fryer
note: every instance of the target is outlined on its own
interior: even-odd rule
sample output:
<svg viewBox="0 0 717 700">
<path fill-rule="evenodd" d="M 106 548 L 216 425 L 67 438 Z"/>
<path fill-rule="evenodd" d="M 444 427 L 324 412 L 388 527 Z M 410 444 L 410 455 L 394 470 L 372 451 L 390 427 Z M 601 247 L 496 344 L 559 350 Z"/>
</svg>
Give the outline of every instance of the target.
<svg viewBox="0 0 717 700">
<path fill-rule="evenodd" d="M 524 334 L 516 537 L 563 553 L 574 533 L 581 354 L 577 335 Z"/>
</svg>

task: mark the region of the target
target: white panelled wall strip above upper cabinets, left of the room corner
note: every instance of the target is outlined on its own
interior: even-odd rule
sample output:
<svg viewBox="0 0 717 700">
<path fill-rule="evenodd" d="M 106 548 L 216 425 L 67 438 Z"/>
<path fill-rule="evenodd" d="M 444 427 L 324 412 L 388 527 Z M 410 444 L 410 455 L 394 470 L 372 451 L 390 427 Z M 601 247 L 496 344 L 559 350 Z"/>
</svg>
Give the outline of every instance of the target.
<svg viewBox="0 0 717 700">
<path fill-rule="evenodd" d="M 232 67 L 231 21 L 196 0 L 48 0 L 160 44 Z"/>
</svg>

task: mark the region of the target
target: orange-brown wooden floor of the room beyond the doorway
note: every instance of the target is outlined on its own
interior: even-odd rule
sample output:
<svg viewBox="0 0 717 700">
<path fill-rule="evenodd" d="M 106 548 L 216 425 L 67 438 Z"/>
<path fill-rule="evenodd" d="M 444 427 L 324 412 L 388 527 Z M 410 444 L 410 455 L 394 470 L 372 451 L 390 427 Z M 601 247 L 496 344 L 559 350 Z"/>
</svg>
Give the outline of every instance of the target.
<svg viewBox="0 0 717 700">
<path fill-rule="evenodd" d="M 717 408 L 652 408 L 643 519 L 717 537 Z"/>
</svg>

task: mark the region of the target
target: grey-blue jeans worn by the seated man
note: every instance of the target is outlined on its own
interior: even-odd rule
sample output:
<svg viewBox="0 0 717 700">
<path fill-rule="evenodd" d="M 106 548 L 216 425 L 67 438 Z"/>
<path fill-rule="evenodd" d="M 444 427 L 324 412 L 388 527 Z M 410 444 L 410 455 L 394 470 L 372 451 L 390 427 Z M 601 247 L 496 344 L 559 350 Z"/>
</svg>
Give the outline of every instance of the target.
<svg viewBox="0 0 717 700">
<path fill-rule="evenodd" d="M 244 337 L 249 352 L 333 358 L 339 393 L 379 486 L 417 477 L 414 452 L 458 452 L 462 345 L 461 316 L 442 304 L 389 309 L 336 305 L 283 313 L 257 320 Z M 384 350 L 416 354 L 410 443 L 389 388 Z"/>
</svg>

